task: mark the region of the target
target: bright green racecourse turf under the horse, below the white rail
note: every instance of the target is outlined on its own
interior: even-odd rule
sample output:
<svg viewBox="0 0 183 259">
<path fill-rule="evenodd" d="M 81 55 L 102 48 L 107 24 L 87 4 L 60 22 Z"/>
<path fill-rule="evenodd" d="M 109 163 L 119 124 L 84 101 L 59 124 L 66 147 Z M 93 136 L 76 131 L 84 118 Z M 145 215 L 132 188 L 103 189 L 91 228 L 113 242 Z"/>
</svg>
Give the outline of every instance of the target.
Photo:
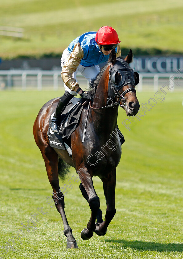
<svg viewBox="0 0 183 259">
<path fill-rule="evenodd" d="M 0 193 L 1 253 L 4 258 L 182 258 L 182 101 L 181 92 L 168 92 L 165 101 L 152 107 L 130 131 L 124 127 L 126 114 L 119 110 L 118 125 L 125 137 L 117 167 L 116 215 L 107 234 L 80 238 L 90 209 L 79 184 L 67 188 L 65 210 L 79 249 L 66 250 L 61 217 L 46 203 L 52 195 L 44 161 L 36 146 L 32 126 L 41 106 L 60 96 L 53 91 L 4 91 L 0 93 Z M 153 92 L 137 93 L 140 104 L 154 98 Z M 64 183 L 75 175 L 71 169 Z M 94 178 L 105 213 L 100 179 Z M 31 215 L 43 208 L 35 230 L 13 238 Z M 5 246 L 6 242 L 14 250 Z M 18 237 L 17 237 L 18 238 Z M 1 257 L 3 258 L 3 257 Z"/>
</svg>

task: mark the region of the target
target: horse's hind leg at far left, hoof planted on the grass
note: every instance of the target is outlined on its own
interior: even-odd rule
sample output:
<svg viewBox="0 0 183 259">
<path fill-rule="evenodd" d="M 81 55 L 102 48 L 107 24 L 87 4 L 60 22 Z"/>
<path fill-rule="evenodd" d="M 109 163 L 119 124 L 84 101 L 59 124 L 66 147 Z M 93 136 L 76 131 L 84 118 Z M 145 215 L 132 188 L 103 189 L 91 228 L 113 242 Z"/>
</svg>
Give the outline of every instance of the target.
<svg viewBox="0 0 183 259">
<path fill-rule="evenodd" d="M 55 207 L 57 208 L 63 220 L 63 233 L 67 237 L 67 248 L 78 248 L 64 211 L 64 195 L 60 191 L 59 186 L 58 155 L 50 146 L 46 147 L 44 152 L 42 152 L 42 155 L 44 158 L 48 179 L 50 181 L 51 187 L 53 188 L 52 197 L 55 201 Z"/>
</svg>

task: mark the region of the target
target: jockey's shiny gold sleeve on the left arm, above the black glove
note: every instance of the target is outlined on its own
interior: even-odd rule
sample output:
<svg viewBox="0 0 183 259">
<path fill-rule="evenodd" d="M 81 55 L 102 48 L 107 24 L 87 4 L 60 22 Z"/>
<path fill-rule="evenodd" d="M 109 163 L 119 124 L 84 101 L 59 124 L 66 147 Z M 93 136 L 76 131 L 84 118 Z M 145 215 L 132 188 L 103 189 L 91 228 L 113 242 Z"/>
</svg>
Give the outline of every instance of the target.
<svg viewBox="0 0 183 259">
<path fill-rule="evenodd" d="M 72 74 L 76 71 L 76 68 L 79 66 L 81 59 L 83 58 L 83 55 L 83 49 L 81 48 L 80 44 L 77 43 L 74 46 L 73 51 L 68 56 L 67 61 L 65 62 L 62 68 L 62 80 L 72 91 L 74 91 L 75 88 L 79 86 L 76 80 L 72 77 Z"/>
</svg>

